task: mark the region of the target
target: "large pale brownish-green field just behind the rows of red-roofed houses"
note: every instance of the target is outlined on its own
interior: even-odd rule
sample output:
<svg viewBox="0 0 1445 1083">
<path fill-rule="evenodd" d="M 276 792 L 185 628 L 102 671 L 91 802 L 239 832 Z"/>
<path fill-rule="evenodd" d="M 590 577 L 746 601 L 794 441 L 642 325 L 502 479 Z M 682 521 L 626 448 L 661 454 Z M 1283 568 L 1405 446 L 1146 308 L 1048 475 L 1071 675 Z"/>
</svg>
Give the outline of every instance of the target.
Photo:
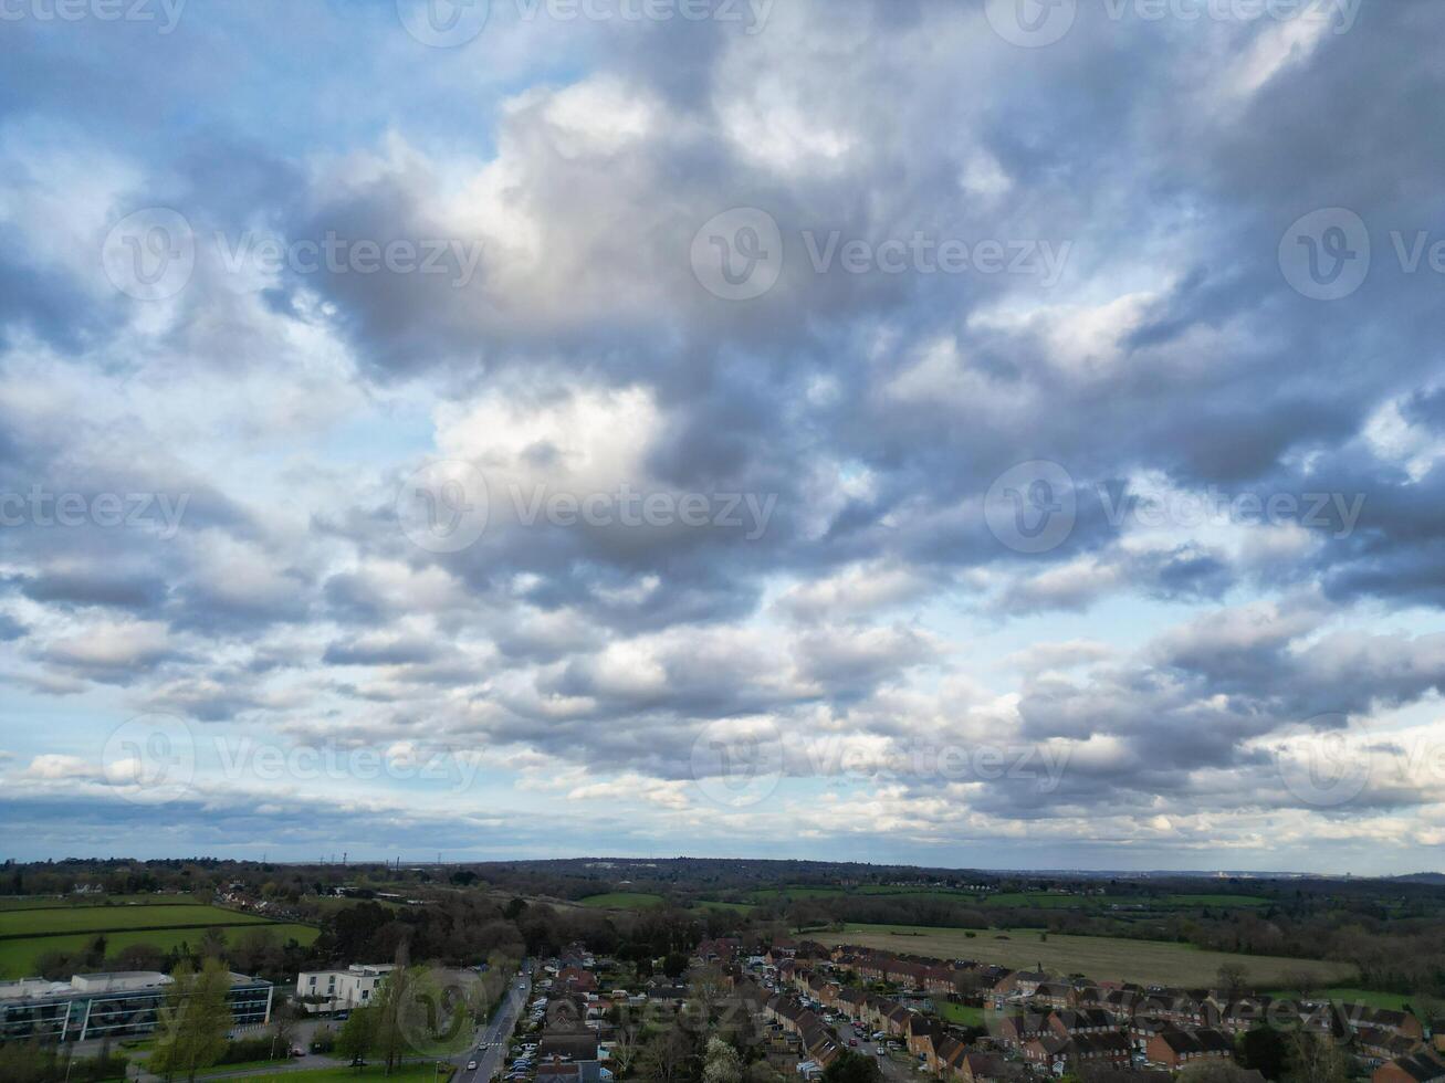
<svg viewBox="0 0 1445 1083">
<path fill-rule="evenodd" d="M 815 939 L 827 944 L 864 944 L 939 959 L 978 959 L 1019 969 L 1042 963 L 1046 970 L 1059 973 L 1142 985 L 1212 985 L 1224 963 L 1244 966 L 1250 983 L 1260 988 L 1279 985 L 1282 975 L 1292 970 L 1308 970 L 1321 982 L 1348 982 L 1355 976 L 1354 967 L 1344 963 L 1202 952 L 1189 944 L 1098 936 L 1051 934 L 1048 940 L 1040 940 L 1038 930 L 983 930 L 968 937 L 962 928 L 847 926 L 842 933 L 819 933 Z"/>
</svg>

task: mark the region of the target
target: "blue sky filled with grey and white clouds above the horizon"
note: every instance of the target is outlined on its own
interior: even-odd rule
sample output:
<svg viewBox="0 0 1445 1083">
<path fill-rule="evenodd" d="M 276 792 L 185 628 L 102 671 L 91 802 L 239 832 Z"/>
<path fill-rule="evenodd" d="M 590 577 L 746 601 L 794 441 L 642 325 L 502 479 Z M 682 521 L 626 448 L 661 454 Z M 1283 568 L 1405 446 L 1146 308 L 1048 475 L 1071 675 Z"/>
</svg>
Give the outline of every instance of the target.
<svg viewBox="0 0 1445 1083">
<path fill-rule="evenodd" d="M 1441 869 L 1438 0 L 0 0 L 4 855 Z"/>
</svg>

